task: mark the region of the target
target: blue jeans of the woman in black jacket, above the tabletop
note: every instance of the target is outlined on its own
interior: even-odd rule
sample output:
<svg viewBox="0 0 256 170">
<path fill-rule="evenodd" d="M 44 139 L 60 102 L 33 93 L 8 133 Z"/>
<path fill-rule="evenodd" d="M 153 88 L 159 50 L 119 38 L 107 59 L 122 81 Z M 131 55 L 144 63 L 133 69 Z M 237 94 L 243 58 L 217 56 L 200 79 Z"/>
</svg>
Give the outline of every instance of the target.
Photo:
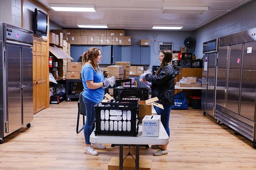
<svg viewBox="0 0 256 170">
<path fill-rule="evenodd" d="M 163 105 L 163 106 L 164 106 L 164 110 L 156 106 L 154 106 L 154 108 L 156 110 L 157 115 L 161 115 L 161 122 L 164 126 L 166 133 L 170 138 L 169 119 L 170 119 L 170 112 L 171 112 L 172 106 L 170 105 Z"/>
</svg>

